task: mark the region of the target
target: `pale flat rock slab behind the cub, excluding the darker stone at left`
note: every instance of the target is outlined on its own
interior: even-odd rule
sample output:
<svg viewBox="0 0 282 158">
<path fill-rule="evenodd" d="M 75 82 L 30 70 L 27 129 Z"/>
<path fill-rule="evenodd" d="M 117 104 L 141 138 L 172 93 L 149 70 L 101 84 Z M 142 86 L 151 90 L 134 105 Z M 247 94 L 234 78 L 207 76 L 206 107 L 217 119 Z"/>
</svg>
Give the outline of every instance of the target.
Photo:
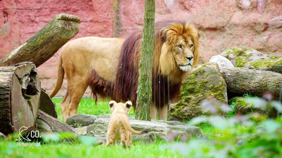
<svg viewBox="0 0 282 158">
<path fill-rule="evenodd" d="M 106 141 L 109 118 L 97 118 L 94 124 L 87 126 L 87 135 L 94 136 L 98 140 Z M 135 130 L 146 129 L 149 133 L 142 135 L 133 135 L 133 140 L 142 142 L 153 142 L 156 139 L 167 141 L 171 133 L 185 133 L 189 139 L 191 137 L 203 137 L 199 127 L 187 125 L 178 121 L 143 121 L 130 119 L 130 125 Z"/>
</svg>

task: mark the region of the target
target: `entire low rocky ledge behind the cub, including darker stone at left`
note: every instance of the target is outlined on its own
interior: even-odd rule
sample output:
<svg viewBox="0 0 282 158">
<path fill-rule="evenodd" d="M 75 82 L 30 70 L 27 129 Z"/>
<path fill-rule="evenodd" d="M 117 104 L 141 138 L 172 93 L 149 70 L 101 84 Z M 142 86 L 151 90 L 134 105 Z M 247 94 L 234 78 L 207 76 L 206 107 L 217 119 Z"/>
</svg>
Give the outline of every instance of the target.
<svg viewBox="0 0 282 158">
<path fill-rule="evenodd" d="M 97 140 L 106 141 L 109 117 L 78 114 L 68 118 L 66 123 L 75 127 L 77 134 L 93 136 Z M 132 138 L 147 143 L 155 140 L 190 140 L 193 137 L 206 137 L 199 127 L 179 121 L 143 121 L 130 117 L 130 125 L 135 130 L 149 131 L 146 134 L 133 135 Z"/>
</svg>

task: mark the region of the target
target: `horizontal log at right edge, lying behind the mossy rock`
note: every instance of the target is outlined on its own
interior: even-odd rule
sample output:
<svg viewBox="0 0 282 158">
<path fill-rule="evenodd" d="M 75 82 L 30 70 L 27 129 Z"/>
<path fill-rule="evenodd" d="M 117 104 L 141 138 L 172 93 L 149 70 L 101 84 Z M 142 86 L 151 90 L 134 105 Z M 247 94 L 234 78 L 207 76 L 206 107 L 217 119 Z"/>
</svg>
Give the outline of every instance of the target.
<svg viewBox="0 0 282 158">
<path fill-rule="evenodd" d="M 220 69 L 220 73 L 225 79 L 227 91 L 231 93 L 250 93 L 261 97 L 264 92 L 270 92 L 279 99 L 282 74 L 245 68 L 225 68 Z"/>
</svg>

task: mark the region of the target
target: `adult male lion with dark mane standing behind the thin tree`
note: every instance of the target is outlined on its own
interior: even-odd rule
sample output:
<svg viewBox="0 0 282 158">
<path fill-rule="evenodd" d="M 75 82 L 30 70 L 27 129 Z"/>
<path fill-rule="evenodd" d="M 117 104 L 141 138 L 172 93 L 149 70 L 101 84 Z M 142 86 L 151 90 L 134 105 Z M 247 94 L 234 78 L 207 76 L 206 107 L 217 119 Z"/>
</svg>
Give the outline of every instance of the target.
<svg viewBox="0 0 282 158">
<path fill-rule="evenodd" d="M 141 38 L 142 33 L 136 32 L 126 40 L 88 37 L 72 40 L 64 46 L 57 83 L 50 97 L 59 91 L 65 71 L 68 79 L 68 91 L 62 101 L 65 120 L 77 113 L 87 85 L 94 96 L 108 95 L 117 102 L 131 100 L 135 106 Z M 188 23 L 156 23 L 151 119 L 156 118 L 155 110 L 159 119 L 167 119 L 168 100 L 179 94 L 182 80 L 199 60 L 199 38 L 198 31 Z"/>
</svg>

